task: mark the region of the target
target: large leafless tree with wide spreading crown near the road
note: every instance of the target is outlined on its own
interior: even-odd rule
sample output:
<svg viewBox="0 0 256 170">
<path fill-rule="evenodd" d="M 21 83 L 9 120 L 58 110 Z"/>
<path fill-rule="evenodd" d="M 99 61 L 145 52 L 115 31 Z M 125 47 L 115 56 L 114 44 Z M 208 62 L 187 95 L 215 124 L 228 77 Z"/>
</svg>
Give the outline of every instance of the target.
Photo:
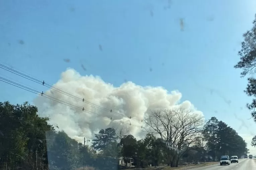
<svg viewBox="0 0 256 170">
<path fill-rule="evenodd" d="M 151 133 L 157 133 L 166 142 L 171 166 L 178 162 L 188 147 L 200 140 L 204 125 L 201 115 L 183 107 L 152 111 L 145 120 Z"/>
</svg>

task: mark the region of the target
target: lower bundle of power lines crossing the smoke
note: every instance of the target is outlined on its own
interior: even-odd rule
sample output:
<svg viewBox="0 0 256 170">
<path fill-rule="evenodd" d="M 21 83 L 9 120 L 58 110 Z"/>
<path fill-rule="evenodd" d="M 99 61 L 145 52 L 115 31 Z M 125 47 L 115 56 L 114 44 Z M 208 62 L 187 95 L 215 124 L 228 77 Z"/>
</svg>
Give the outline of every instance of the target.
<svg viewBox="0 0 256 170">
<path fill-rule="evenodd" d="M 55 98 L 55 97 L 53 97 L 53 96 L 51 96 L 51 95 L 45 94 L 43 91 L 42 91 L 42 92 L 39 92 L 39 91 L 37 91 L 37 90 L 34 90 L 34 89 L 32 89 L 32 88 L 23 86 L 23 85 L 21 85 L 21 84 L 19 84 L 19 83 L 15 83 L 15 82 L 13 82 L 13 81 L 11 81 L 11 80 L 8 80 L 8 79 L 5 79 L 5 78 L 3 78 L 3 77 L 0 77 L 0 81 L 5 82 L 5 83 L 8 83 L 8 84 L 13 85 L 13 86 L 18 87 L 18 88 L 21 88 L 21 89 L 23 89 L 23 90 L 29 91 L 29 92 L 31 92 L 31 93 L 34 93 L 34 94 L 37 94 L 37 95 L 46 97 L 46 98 L 48 98 L 48 99 L 51 99 L 51 100 L 53 100 L 53 101 L 55 101 L 55 102 L 58 102 L 58 103 L 61 103 L 61 104 L 66 105 L 66 106 L 72 107 L 72 108 L 74 108 L 74 109 L 86 111 L 86 112 L 91 113 L 91 114 L 94 114 L 94 115 L 96 115 L 96 116 L 100 116 L 100 117 L 102 117 L 102 118 L 104 118 L 104 119 L 107 119 L 107 120 L 115 121 L 115 122 L 118 122 L 118 123 L 121 123 L 121 124 L 125 124 L 125 125 L 130 125 L 130 126 L 132 126 L 132 127 L 143 128 L 143 126 L 140 127 L 140 126 L 134 125 L 134 124 L 132 124 L 132 123 L 129 124 L 129 123 L 126 123 L 126 122 L 122 122 L 122 121 L 120 121 L 120 120 L 112 120 L 112 117 L 111 117 L 111 118 L 103 117 L 103 116 L 98 115 L 97 113 L 95 113 L 95 112 L 93 112 L 93 111 L 91 111 L 91 110 L 85 109 L 84 107 L 82 108 L 82 107 L 80 107 L 80 106 L 74 105 L 74 104 L 69 103 L 69 102 L 67 102 L 67 101 L 64 101 L 64 100 Z"/>
</svg>

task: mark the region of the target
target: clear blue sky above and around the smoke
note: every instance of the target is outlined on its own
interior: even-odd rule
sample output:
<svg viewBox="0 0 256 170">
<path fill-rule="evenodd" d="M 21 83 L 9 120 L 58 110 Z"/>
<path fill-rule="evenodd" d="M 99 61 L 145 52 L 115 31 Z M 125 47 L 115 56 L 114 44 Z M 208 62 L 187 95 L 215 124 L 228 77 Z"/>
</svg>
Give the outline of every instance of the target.
<svg viewBox="0 0 256 170">
<path fill-rule="evenodd" d="M 256 124 L 247 120 L 247 81 L 233 66 L 255 12 L 254 0 L 0 1 L 0 62 L 51 83 L 71 67 L 115 86 L 177 89 L 206 119 L 216 116 L 250 142 Z M 1 101 L 34 98 L 0 86 Z"/>
</svg>

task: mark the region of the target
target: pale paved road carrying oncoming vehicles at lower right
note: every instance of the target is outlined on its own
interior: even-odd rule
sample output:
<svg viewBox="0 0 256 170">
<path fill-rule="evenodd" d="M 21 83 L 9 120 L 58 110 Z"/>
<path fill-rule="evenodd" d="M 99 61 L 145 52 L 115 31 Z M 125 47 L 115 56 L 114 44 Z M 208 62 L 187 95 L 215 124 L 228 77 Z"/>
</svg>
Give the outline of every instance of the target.
<svg viewBox="0 0 256 170">
<path fill-rule="evenodd" d="M 232 163 L 230 165 L 223 165 L 220 166 L 219 164 L 216 165 L 209 165 L 204 167 L 198 168 L 187 168 L 191 170 L 256 170 L 256 160 L 255 159 L 239 159 L 239 163 Z"/>
</svg>

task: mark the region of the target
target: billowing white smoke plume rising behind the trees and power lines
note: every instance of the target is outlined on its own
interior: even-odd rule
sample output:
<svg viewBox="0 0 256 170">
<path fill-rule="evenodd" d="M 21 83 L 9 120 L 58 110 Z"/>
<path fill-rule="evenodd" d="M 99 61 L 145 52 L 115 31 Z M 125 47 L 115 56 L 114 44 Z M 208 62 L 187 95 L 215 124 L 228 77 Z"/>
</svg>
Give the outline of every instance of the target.
<svg viewBox="0 0 256 170">
<path fill-rule="evenodd" d="M 168 109 L 182 105 L 202 114 L 196 111 L 189 101 L 181 103 L 182 95 L 177 90 L 168 92 L 163 87 L 142 87 L 132 82 L 114 87 L 104 82 L 99 76 L 81 76 L 74 69 L 67 69 L 63 72 L 61 79 L 54 84 L 54 87 L 91 102 L 88 104 L 88 102 L 77 100 L 75 97 L 64 95 L 53 89 L 49 89 L 46 94 L 81 109 L 72 108 L 42 96 L 34 100 L 40 116 L 49 117 L 49 123 L 57 124 L 59 130 L 64 130 L 71 138 L 79 141 L 83 141 L 84 137 L 93 139 L 94 133 L 108 127 L 129 128 L 131 134 L 140 138 L 145 135 L 140 128 L 144 127 L 145 123 L 140 120 L 147 117 L 153 109 Z M 92 103 L 96 104 L 96 107 Z M 82 111 L 82 108 L 85 111 Z M 93 114 L 87 112 L 86 109 L 92 111 Z M 109 111 L 110 109 L 112 112 Z"/>
</svg>

